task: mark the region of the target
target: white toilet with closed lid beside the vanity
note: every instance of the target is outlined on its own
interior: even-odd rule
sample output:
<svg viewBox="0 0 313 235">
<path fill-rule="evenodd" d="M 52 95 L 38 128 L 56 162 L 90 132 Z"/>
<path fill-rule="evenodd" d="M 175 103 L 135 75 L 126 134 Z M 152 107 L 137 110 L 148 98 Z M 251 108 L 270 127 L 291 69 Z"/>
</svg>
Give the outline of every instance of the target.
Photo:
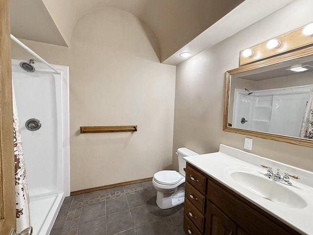
<svg viewBox="0 0 313 235">
<path fill-rule="evenodd" d="M 175 207 L 184 202 L 186 161 L 183 157 L 199 155 L 188 149 L 177 150 L 179 172 L 176 170 L 161 170 L 153 176 L 153 186 L 156 188 L 156 204 L 161 209 Z"/>
</svg>

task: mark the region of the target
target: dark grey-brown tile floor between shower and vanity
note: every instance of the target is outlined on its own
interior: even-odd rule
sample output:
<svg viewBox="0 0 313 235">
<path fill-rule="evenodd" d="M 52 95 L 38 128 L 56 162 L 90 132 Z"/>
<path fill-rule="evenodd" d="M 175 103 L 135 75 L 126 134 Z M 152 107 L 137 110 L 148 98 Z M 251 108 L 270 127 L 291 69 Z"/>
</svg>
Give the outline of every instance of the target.
<svg viewBox="0 0 313 235">
<path fill-rule="evenodd" d="M 151 181 L 66 197 L 50 235 L 185 235 L 183 204 L 161 210 Z"/>
</svg>

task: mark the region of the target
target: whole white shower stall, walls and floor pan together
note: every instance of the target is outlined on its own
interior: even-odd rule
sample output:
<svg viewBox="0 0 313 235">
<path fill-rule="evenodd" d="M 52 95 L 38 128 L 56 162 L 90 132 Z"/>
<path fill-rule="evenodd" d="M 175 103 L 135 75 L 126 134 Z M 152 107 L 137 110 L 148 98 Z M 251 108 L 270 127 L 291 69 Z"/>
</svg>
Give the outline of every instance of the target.
<svg viewBox="0 0 313 235">
<path fill-rule="evenodd" d="M 69 196 L 68 67 L 32 63 L 24 71 L 12 60 L 12 80 L 21 125 L 33 235 L 49 235 Z M 31 69 L 27 65 L 25 68 Z"/>
</svg>

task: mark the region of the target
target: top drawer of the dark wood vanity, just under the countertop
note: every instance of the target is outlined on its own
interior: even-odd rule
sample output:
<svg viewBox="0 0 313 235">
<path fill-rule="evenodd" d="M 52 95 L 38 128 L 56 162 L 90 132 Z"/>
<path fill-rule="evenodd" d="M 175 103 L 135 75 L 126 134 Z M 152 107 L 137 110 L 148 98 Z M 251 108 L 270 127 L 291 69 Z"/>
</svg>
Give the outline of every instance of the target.
<svg viewBox="0 0 313 235">
<path fill-rule="evenodd" d="M 186 181 L 197 188 L 201 193 L 205 194 L 206 176 L 192 168 L 190 164 L 187 164 L 186 168 Z"/>
</svg>

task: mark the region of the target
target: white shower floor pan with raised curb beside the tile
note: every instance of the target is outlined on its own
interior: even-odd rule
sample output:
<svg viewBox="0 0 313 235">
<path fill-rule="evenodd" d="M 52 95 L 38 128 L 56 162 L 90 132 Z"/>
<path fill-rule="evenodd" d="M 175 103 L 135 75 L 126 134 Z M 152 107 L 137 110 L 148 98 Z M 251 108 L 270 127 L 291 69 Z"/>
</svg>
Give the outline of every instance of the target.
<svg viewBox="0 0 313 235">
<path fill-rule="evenodd" d="M 30 198 L 30 224 L 33 235 L 49 235 L 58 215 L 64 193 Z"/>
</svg>

